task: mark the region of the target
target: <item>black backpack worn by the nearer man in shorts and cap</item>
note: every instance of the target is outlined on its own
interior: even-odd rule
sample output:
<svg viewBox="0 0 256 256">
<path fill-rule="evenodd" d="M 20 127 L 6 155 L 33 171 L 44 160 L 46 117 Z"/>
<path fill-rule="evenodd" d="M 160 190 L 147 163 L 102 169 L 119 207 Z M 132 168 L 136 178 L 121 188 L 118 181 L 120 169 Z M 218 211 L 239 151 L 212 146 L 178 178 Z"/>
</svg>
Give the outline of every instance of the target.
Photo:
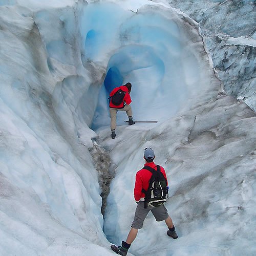
<svg viewBox="0 0 256 256">
<path fill-rule="evenodd" d="M 158 207 L 166 202 L 166 195 L 168 197 L 167 180 L 164 178 L 160 166 L 157 165 L 157 170 L 150 166 L 144 166 L 143 169 L 147 169 L 152 173 L 147 191 L 142 188 L 142 192 L 145 194 L 144 208 L 147 206 Z"/>
</svg>

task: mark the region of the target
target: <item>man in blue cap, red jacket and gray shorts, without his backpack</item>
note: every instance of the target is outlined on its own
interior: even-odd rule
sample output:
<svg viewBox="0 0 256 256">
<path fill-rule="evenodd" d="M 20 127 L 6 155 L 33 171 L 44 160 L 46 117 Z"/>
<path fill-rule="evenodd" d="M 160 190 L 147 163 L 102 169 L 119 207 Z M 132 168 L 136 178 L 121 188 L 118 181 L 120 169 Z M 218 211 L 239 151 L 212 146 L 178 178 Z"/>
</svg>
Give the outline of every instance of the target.
<svg viewBox="0 0 256 256">
<path fill-rule="evenodd" d="M 122 241 L 121 246 L 111 245 L 111 249 L 113 251 L 123 256 L 127 254 L 127 251 L 129 250 L 132 242 L 135 240 L 138 230 L 142 228 L 143 222 L 150 210 L 152 211 L 152 214 L 154 215 L 156 221 L 165 221 L 168 227 L 167 235 L 169 237 L 172 237 L 173 239 L 178 238 L 178 235 L 175 231 L 175 226 L 173 224 L 173 220 L 169 217 L 168 211 L 163 204 L 161 204 L 158 207 L 147 206 L 145 208 L 145 205 L 147 203 L 147 200 L 145 200 L 145 194 L 146 191 L 148 190 L 148 186 L 150 184 L 150 180 L 154 172 L 161 172 L 163 174 L 164 179 L 166 180 L 166 183 L 167 178 L 164 168 L 160 165 L 157 166 L 154 163 L 155 153 L 151 147 L 146 147 L 144 149 L 144 159 L 144 167 L 141 170 L 139 170 L 136 174 L 134 199 L 138 205 L 135 211 L 133 223 L 131 225 L 132 228 L 127 236 L 126 241 Z M 168 185 L 168 183 L 166 185 Z M 143 191 L 145 192 L 145 194 L 143 193 Z M 146 203 L 144 201 L 146 201 Z"/>
</svg>

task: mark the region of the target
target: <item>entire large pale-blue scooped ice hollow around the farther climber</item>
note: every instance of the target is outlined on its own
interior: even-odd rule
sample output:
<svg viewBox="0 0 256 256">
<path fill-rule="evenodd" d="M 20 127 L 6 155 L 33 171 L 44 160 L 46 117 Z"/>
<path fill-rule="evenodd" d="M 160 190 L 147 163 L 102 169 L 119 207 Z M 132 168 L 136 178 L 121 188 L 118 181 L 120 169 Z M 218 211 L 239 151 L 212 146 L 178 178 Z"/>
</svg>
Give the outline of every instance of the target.
<svg viewBox="0 0 256 256">
<path fill-rule="evenodd" d="M 113 15 L 114 11 L 118 15 Z M 126 82 L 133 85 L 136 119 L 170 118 L 201 90 L 204 79 L 200 53 L 196 51 L 202 48 L 202 40 L 198 32 L 189 31 L 196 26 L 184 25 L 176 13 L 166 13 L 166 8 L 159 6 L 146 6 L 133 13 L 108 4 L 90 5 L 84 15 L 85 63 L 108 63 L 106 79 L 98 85 L 98 104 L 88 123 L 92 129 L 109 125 L 109 93 Z M 96 19 L 96 24 L 91 22 Z M 123 124 L 122 114 L 117 124 Z"/>
</svg>

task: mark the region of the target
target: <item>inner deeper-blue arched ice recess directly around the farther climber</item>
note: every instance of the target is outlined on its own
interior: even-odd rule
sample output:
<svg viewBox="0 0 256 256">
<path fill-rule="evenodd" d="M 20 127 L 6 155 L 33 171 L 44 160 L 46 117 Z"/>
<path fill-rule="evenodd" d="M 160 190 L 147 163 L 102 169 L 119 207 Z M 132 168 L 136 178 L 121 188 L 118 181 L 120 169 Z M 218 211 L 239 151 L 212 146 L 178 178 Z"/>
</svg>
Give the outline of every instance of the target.
<svg viewBox="0 0 256 256">
<path fill-rule="evenodd" d="M 131 98 L 134 116 L 149 118 L 149 116 L 146 117 L 147 114 L 143 110 L 148 109 L 148 106 L 153 107 L 157 96 L 166 96 L 164 88 L 159 91 L 164 74 L 164 62 L 153 48 L 129 45 L 119 50 L 109 61 L 91 129 L 96 130 L 102 125 L 110 124 L 109 94 L 114 88 L 126 82 L 132 83 Z M 126 113 L 120 112 L 117 124 L 124 124 L 123 121 L 126 119 Z"/>
</svg>

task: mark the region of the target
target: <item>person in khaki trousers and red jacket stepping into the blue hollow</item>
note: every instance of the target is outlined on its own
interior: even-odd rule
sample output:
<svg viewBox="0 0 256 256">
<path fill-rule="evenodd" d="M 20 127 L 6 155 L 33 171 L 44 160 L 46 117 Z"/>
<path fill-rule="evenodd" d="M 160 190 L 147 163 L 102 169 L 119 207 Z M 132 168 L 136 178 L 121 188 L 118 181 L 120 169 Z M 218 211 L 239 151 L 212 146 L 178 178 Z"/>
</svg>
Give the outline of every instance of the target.
<svg viewBox="0 0 256 256">
<path fill-rule="evenodd" d="M 116 137 L 116 114 L 117 111 L 126 111 L 127 116 L 129 117 L 129 121 L 128 124 L 132 125 L 135 124 L 135 122 L 133 121 L 133 112 L 132 112 L 132 108 L 130 106 L 130 103 L 132 102 L 131 100 L 131 96 L 130 96 L 130 92 L 132 89 L 132 84 L 130 82 L 127 82 L 124 86 L 120 86 L 115 88 L 111 93 L 110 93 L 110 117 L 111 117 L 111 137 L 112 139 L 115 139 Z M 114 102 L 112 102 L 114 97 L 114 94 L 118 91 L 121 90 L 119 92 L 121 92 L 121 94 L 124 94 L 124 98 L 122 99 L 121 103 L 116 105 L 114 104 Z M 125 104 L 124 104 L 125 103 Z"/>
</svg>

